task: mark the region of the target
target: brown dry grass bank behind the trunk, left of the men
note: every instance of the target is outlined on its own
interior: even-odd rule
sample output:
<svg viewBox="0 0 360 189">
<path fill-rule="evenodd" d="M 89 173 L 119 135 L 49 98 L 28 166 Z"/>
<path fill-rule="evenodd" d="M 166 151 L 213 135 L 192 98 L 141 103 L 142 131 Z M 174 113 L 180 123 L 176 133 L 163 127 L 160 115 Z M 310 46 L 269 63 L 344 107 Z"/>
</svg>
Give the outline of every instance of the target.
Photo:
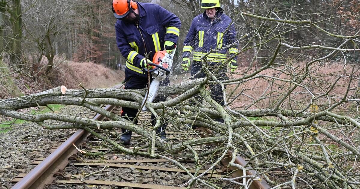
<svg viewBox="0 0 360 189">
<path fill-rule="evenodd" d="M 5 89 L 0 91 L 0 98 L 38 93 L 60 85 L 68 89 L 81 89 L 77 86 L 80 83 L 87 89 L 107 88 L 121 83 L 125 78 L 123 71 L 112 70 L 92 62 L 68 62 L 61 57 L 56 57 L 54 62 L 55 67 L 48 75 L 44 74 L 44 65 L 47 64 L 45 58 L 41 64 L 34 64 L 28 70 L 0 78 L 0 84 L 5 86 Z M 2 67 L 7 67 L 7 64 L 3 63 Z M 2 69 L 0 73 L 3 74 L 0 75 L 16 69 Z"/>
</svg>

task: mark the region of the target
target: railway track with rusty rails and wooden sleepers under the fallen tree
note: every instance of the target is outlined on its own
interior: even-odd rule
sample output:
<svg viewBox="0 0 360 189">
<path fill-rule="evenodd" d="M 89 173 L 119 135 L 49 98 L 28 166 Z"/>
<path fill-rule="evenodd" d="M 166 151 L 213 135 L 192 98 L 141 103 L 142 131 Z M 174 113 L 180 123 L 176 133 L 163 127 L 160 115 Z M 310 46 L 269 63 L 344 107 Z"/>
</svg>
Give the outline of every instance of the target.
<svg viewBox="0 0 360 189">
<path fill-rule="evenodd" d="M 118 112 L 119 110 L 111 105 L 104 107 L 108 111 Z M 139 124 L 149 122 L 149 115 L 140 116 Z M 106 117 L 96 114 L 96 120 L 106 120 Z M 200 128 L 201 130 L 202 128 Z M 205 131 L 205 130 L 203 130 Z M 109 132 L 109 135 L 117 135 Z M 198 138 L 194 133 L 185 133 L 179 130 L 167 131 L 168 142 L 185 141 L 192 138 Z M 148 150 L 142 142 L 146 140 L 141 135 L 132 135 L 132 144 L 127 148 L 139 148 Z M 213 144 L 216 145 L 216 144 Z M 214 146 L 212 146 L 214 147 Z M 78 149 L 76 149 L 78 148 Z M 206 152 L 211 148 L 209 145 L 199 147 L 199 152 Z M 79 150 L 85 150 L 88 156 L 84 156 Z M 14 189 L 26 188 L 144 188 L 144 189 L 178 189 L 186 183 L 190 176 L 166 159 L 149 159 L 139 155 L 122 154 L 113 151 L 102 140 L 95 138 L 85 130 L 78 130 L 69 139 L 58 147 L 53 147 L 52 153 L 46 158 L 38 158 L 32 165 L 36 167 L 28 174 L 20 174 L 12 180 Z M 185 150 L 186 151 L 186 150 Z M 189 151 L 189 153 L 191 153 Z M 92 157 L 89 154 L 101 154 L 101 156 Z M 99 158 L 101 157 L 101 158 Z M 176 157 L 172 157 L 176 158 Z M 176 159 L 178 162 L 188 168 L 194 174 L 197 171 L 203 173 L 210 167 L 209 159 L 201 159 L 201 169 L 197 167 L 194 159 Z M 236 167 L 228 166 L 231 160 L 231 153 L 222 159 L 223 166 L 217 166 L 211 172 L 205 175 L 208 181 L 212 181 L 221 188 L 233 188 L 233 184 L 221 180 L 221 177 L 241 177 L 243 171 Z M 235 163 L 246 166 L 247 162 L 242 157 L 237 157 Z M 247 171 L 247 175 L 253 175 L 254 172 Z M 206 188 L 201 183 L 196 183 L 192 188 Z M 271 188 L 264 179 L 262 181 L 253 181 L 251 189 Z"/>
</svg>

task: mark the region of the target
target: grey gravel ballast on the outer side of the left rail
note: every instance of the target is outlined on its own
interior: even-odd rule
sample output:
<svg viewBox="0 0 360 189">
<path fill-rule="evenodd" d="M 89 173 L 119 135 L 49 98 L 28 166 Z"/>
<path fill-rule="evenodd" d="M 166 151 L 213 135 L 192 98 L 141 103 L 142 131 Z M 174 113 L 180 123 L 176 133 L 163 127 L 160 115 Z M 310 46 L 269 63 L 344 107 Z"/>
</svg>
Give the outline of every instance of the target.
<svg viewBox="0 0 360 189">
<path fill-rule="evenodd" d="M 55 113 L 70 113 L 81 117 L 91 117 L 86 108 L 77 106 L 66 106 Z M 61 124 L 56 121 L 48 121 L 49 124 Z M 26 122 L 24 125 L 1 133 L 0 138 L 0 189 L 11 188 L 11 180 L 22 173 L 30 172 L 35 166 L 30 165 L 40 157 L 50 154 L 54 145 L 59 145 L 76 130 L 44 130 L 41 126 Z"/>
</svg>

